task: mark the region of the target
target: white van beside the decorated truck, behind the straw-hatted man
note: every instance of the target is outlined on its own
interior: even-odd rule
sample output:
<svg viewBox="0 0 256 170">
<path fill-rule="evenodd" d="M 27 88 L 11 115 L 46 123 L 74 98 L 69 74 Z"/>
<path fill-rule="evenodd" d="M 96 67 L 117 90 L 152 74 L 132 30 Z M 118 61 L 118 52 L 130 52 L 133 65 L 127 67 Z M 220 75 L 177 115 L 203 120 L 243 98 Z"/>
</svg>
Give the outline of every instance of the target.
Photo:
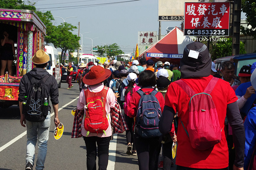
<svg viewBox="0 0 256 170">
<path fill-rule="evenodd" d="M 58 88 L 61 86 L 61 75 L 60 75 L 60 59 L 58 51 L 55 47 L 45 45 L 44 50 L 50 57 L 49 64 L 47 65 L 47 72 L 55 77 Z"/>
</svg>

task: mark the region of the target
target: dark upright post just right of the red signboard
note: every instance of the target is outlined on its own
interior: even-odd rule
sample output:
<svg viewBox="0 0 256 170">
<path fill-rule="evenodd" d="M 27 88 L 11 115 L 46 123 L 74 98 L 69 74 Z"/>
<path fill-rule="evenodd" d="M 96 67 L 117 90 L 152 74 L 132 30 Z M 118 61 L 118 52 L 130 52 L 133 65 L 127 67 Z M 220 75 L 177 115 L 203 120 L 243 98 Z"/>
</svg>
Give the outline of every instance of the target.
<svg viewBox="0 0 256 170">
<path fill-rule="evenodd" d="M 232 38 L 232 55 L 240 52 L 240 22 L 241 22 L 241 0 L 233 2 L 233 38 Z"/>
</svg>

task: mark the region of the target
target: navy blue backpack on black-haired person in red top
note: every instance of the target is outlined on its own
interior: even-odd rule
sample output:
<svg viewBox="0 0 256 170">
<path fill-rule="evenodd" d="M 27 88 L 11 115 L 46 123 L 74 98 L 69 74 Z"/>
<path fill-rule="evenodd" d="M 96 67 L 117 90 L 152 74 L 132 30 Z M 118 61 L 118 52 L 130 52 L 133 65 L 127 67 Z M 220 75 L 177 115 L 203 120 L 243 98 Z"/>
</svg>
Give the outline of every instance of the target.
<svg viewBox="0 0 256 170">
<path fill-rule="evenodd" d="M 161 107 L 155 96 L 157 92 L 156 90 L 144 92 L 141 89 L 137 91 L 140 94 L 140 101 L 136 116 L 135 132 L 143 138 L 161 136 L 158 129 Z"/>
</svg>

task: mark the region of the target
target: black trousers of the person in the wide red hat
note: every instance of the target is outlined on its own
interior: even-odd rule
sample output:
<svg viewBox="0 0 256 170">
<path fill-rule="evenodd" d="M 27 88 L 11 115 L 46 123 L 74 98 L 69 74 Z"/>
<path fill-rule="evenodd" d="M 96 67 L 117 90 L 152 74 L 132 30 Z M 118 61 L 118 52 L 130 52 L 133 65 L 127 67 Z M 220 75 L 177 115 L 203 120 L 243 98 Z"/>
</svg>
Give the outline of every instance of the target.
<svg viewBox="0 0 256 170">
<path fill-rule="evenodd" d="M 106 170 L 108 166 L 108 149 L 111 136 L 100 138 L 97 136 L 85 137 L 84 142 L 86 146 L 86 166 L 87 170 L 96 170 L 96 142 L 98 146 L 98 166 L 99 170 Z"/>
</svg>

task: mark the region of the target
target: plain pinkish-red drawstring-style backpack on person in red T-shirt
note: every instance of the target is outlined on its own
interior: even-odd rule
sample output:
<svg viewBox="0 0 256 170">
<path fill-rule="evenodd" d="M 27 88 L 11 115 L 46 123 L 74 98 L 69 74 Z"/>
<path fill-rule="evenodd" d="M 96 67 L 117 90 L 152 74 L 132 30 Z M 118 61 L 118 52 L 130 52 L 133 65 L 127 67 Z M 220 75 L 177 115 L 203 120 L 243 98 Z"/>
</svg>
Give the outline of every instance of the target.
<svg viewBox="0 0 256 170">
<path fill-rule="evenodd" d="M 180 121 L 190 139 L 191 146 L 198 150 L 209 149 L 219 143 L 222 138 L 217 110 L 210 95 L 217 81 L 218 78 L 212 77 L 204 92 L 198 94 L 182 79 L 175 81 L 191 98 L 187 130 L 181 118 Z"/>
</svg>

